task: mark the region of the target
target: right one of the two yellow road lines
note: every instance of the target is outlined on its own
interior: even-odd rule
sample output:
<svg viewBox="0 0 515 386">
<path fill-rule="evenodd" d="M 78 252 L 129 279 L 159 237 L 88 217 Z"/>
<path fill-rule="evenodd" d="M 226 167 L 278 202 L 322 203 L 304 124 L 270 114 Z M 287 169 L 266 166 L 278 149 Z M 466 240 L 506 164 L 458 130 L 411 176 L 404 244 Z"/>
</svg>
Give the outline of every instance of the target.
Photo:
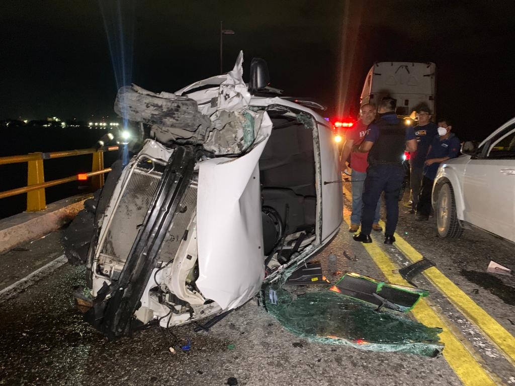
<svg viewBox="0 0 515 386">
<path fill-rule="evenodd" d="M 381 223 L 381 226 L 384 226 L 382 221 Z M 411 247 L 406 240 L 399 236 L 398 233 L 395 234 L 395 238 L 396 242 L 394 245 L 409 260 L 415 262 L 423 258 L 423 256 L 415 248 Z M 469 295 L 451 282 L 438 268 L 428 268 L 423 274 L 467 317 L 467 319 L 485 332 L 490 340 L 499 347 L 509 362 L 515 364 L 515 337 L 513 337 L 513 335 L 474 302 Z"/>
</svg>

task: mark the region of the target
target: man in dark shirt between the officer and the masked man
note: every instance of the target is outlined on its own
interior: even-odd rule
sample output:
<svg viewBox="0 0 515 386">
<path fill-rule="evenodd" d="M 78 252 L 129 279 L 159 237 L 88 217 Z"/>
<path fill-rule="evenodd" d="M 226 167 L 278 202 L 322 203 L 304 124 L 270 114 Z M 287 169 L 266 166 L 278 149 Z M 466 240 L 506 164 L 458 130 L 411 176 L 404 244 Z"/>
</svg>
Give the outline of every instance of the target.
<svg viewBox="0 0 515 386">
<path fill-rule="evenodd" d="M 420 187 L 422 186 L 422 172 L 426 160 L 427 151 L 437 134 L 437 126 L 431 122 L 431 109 L 422 104 L 417 109 L 418 125 L 413 128 L 417 138 L 417 150 L 411 152 L 409 158 L 410 175 L 409 184 L 413 202 L 408 213 L 414 214 L 417 210 Z"/>
</svg>

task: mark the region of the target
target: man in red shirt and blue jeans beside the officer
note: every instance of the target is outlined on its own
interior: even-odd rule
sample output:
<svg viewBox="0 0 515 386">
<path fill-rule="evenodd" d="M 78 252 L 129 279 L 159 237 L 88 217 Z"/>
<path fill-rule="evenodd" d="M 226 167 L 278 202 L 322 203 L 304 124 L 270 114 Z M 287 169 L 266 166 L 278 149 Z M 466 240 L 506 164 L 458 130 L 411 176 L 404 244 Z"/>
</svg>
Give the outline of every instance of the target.
<svg viewBox="0 0 515 386">
<path fill-rule="evenodd" d="M 345 161 L 347 161 L 349 154 L 351 156 L 351 181 L 352 181 L 352 214 L 351 214 L 351 225 L 349 232 L 357 232 L 359 224 L 361 224 L 361 211 L 363 208 L 363 186 L 365 185 L 365 178 L 367 177 L 368 153 L 359 153 L 352 151 L 354 146 L 359 146 L 365 139 L 369 131 L 369 125 L 372 124 L 375 119 L 375 106 L 370 103 L 365 103 L 361 109 L 359 109 L 359 115 L 361 118 L 356 124 L 347 130 L 345 135 L 346 141 L 344 150 L 341 152 L 341 169 L 345 169 Z M 381 210 L 381 200 L 377 200 L 375 206 L 374 222 L 372 224 L 372 230 L 381 232 L 383 229 L 379 225 L 379 216 Z"/>
</svg>

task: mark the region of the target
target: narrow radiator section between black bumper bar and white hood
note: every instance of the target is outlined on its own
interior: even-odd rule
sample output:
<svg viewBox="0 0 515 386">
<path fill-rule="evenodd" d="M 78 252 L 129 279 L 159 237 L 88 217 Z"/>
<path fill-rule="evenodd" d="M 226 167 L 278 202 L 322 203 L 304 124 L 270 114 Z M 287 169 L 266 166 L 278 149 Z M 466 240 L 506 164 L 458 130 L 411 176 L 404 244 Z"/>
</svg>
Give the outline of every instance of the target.
<svg viewBox="0 0 515 386">
<path fill-rule="evenodd" d="M 168 232 L 161 245 L 160 260 L 167 262 L 172 260 L 177 254 L 179 244 L 184 238 L 184 233 L 190 224 L 192 217 L 195 215 L 197 207 L 197 184 L 192 183 L 186 188 L 182 197 L 178 212 L 171 222 Z"/>
</svg>

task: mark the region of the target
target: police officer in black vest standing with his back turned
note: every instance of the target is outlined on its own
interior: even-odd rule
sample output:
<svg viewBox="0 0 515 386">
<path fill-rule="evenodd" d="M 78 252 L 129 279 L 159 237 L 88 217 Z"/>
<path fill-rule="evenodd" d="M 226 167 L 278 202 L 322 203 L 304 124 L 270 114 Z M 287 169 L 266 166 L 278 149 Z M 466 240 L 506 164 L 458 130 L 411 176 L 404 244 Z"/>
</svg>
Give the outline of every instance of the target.
<svg viewBox="0 0 515 386">
<path fill-rule="evenodd" d="M 379 106 L 380 118 L 369 126 L 363 143 L 354 151 L 368 153 L 369 167 L 363 190 L 363 212 L 361 233 L 354 240 L 372 242 L 370 231 L 374 220 L 374 210 L 381 193 L 385 192 L 386 229 L 385 244 L 395 241 L 393 234 L 399 219 L 399 195 L 404 179 L 402 156 L 404 151 L 417 150 L 413 128 L 404 125 L 395 113 L 397 101 L 383 98 Z"/>
</svg>

